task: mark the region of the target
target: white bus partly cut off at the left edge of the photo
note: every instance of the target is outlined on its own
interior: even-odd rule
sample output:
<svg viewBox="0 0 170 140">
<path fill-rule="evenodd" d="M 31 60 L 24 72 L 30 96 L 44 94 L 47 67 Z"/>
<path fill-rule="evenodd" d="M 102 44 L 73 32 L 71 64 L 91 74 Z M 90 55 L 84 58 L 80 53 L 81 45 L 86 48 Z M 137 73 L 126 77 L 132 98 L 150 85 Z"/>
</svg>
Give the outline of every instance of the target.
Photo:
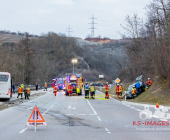
<svg viewBox="0 0 170 140">
<path fill-rule="evenodd" d="M 12 97 L 12 80 L 8 72 L 0 72 L 0 98 Z"/>
</svg>

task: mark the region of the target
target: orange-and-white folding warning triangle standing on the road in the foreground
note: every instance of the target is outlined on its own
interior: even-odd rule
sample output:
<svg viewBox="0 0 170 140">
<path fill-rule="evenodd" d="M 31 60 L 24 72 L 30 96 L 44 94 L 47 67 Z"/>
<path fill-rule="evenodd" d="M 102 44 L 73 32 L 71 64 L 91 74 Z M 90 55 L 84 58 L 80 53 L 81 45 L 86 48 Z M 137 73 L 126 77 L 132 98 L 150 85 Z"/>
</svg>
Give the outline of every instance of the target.
<svg viewBox="0 0 170 140">
<path fill-rule="evenodd" d="M 36 126 L 46 126 L 47 123 L 45 122 L 44 118 L 42 117 L 39 109 L 37 106 L 34 107 L 30 118 L 28 119 L 28 122 L 26 124 L 27 126 L 35 126 L 35 131 L 36 131 Z"/>
</svg>

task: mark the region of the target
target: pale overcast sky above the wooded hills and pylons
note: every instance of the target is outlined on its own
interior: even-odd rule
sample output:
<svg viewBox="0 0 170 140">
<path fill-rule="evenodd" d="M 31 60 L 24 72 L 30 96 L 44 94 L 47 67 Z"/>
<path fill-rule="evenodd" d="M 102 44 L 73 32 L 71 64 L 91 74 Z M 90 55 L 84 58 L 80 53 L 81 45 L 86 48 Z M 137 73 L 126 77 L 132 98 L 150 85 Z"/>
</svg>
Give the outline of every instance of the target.
<svg viewBox="0 0 170 140">
<path fill-rule="evenodd" d="M 85 38 L 91 34 L 92 14 L 97 28 L 95 36 L 121 38 L 120 24 L 126 15 L 137 13 L 145 17 L 143 9 L 151 0 L 0 0 L 0 30 L 29 32 L 40 35 L 53 31 Z"/>
</svg>

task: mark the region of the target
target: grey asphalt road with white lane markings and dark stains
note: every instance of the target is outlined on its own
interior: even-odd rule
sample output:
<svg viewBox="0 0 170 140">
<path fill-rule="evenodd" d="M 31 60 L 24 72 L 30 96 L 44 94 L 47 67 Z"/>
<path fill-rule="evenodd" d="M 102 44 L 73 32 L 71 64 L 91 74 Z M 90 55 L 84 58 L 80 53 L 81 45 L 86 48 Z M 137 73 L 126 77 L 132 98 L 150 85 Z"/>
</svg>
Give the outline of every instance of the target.
<svg viewBox="0 0 170 140">
<path fill-rule="evenodd" d="M 169 126 L 136 126 L 134 121 L 142 121 L 139 111 L 143 107 L 119 102 L 115 99 L 104 100 L 103 94 L 95 100 L 84 96 L 68 97 L 52 90 L 45 95 L 0 111 L 1 140 L 168 140 L 170 130 L 150 130 L 169 128 Z M 27 126 L 33 107 L 37 105 L 47 126 Z M 151 119 L 148 121 L 151 121 Z M 160 121 L 152 118 L 152 121 Z M 143 129 L 149 130 L 143 130 Z"/>
</svg>

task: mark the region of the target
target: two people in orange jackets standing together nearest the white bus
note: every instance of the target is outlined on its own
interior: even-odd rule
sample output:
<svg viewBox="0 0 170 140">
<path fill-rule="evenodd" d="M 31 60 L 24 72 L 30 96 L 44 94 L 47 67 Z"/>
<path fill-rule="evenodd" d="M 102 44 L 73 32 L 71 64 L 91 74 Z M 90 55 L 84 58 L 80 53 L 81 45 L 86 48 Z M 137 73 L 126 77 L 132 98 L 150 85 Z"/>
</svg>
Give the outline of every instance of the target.
<svg viewBox="0 0 170 140">
<path fill-rule="evenodd" d="M 28 88 L 24 88 L 24 84 L 21 84 L 20 87 L 18 88 L 18 96 L 17 98 L 19 98 L 19 96 L 21 96 L 21 99 L 23 99 L 23 92 L 24 92 L 24 96 L 25 96 L 25 100 L 28 99 L 29 100 L 29 97 L 30 97 L 30 93 L 31 93 L 31 90 L 30 90 L 30 85 L 28 86 Z"/>
</svg>

